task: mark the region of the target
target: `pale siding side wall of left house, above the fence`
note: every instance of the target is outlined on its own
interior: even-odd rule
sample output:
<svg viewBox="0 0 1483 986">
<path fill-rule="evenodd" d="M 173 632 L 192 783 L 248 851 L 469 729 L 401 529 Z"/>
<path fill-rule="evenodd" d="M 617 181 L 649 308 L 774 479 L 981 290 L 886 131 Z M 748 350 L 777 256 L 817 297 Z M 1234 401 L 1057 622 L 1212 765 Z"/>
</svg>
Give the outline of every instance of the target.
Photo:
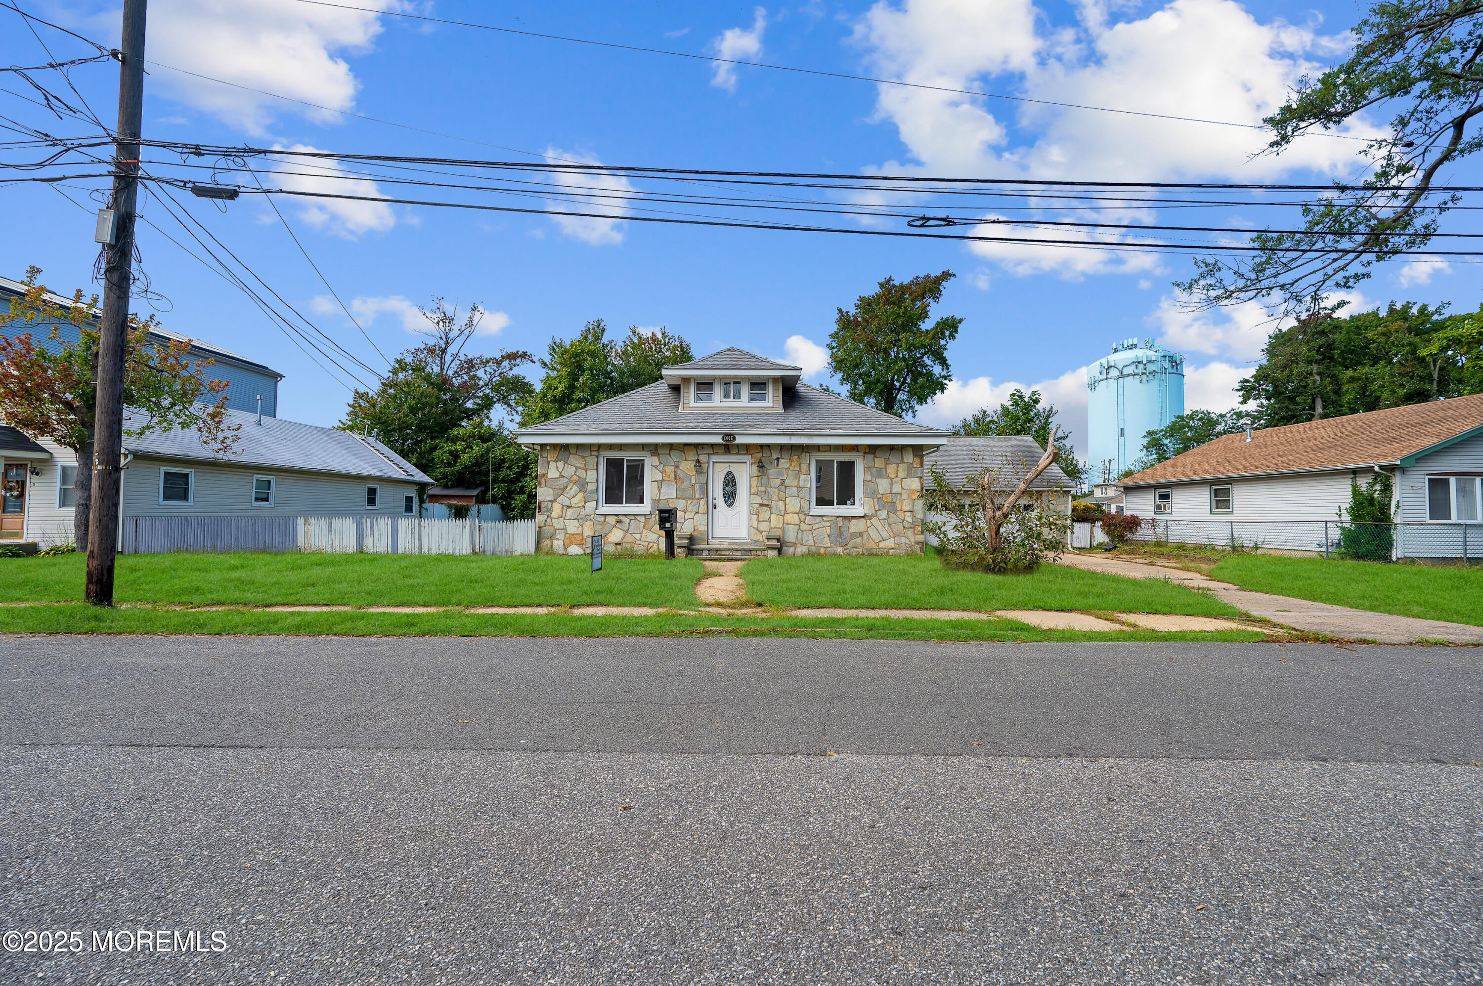
<svg viewBox="0 0 1483 986">
<path fill-rule="evenodd" d="M 191 504 L 160 503 L 162 469 L 194 470 Z M 252 504 L 254 476 L 274 477 L 271 507 Z M 366 509 L 366 486 L 380 488 L 380 510 Z M 123 473 L 123 513 L 126 514 L 346 516 L 360 513 L 400 517 L 405 516 L 402 513 L 405 494 L 415 495 L 415 483 L 148 457 L 135 458 Z"/>
</svg>

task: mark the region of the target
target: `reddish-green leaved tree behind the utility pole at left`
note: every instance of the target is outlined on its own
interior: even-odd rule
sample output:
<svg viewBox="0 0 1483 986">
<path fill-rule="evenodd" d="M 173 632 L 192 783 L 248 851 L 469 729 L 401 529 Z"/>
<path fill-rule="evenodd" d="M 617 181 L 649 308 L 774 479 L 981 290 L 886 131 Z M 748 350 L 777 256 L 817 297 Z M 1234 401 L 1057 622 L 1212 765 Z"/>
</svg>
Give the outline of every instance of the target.
<svg viewBox="0 0 1483 986">
<path fill-rule="evenodd" d="M 40 267 L 25 271 L 25 291 L 0 316 L 0 421 L 31 437 L 68 448 L 80 469 L 73 509 L 73 540 L 87 550 L 87 514 L 92 506 L 93 431 L 98 402 L 98 297 L 83 301 L 73 292 L 62 307 L 39 283 Z M 76 343 L 62 341 L 62 326 L 77 329 Z M 126 437 L 150 431 L 191 429 L 202 445 L 219 455 L 237 442 L 239 424 L 227 423 L 224 380 L 211 380 L 214 360 L 191 360 L 190 343 L 150 338 L 154 319 L 129 316 L 123 350 L 123 406 L 133 412 Z M 50 345 L 39 344 L 46 332 Z"/>
</svg>

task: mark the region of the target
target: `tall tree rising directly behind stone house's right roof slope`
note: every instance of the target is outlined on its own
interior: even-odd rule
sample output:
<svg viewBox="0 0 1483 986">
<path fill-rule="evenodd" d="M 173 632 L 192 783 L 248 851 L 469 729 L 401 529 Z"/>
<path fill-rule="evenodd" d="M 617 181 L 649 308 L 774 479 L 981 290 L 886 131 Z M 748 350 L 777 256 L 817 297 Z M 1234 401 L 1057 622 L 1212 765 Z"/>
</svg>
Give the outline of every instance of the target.
<svg viewBox="0 0 1483 986">
<path fill-rule="evenodd" d="M 931 305 L 954 273 L 922 274 L 896 283 L 887 277 L 862 295 L 853 311 L 839 308 L 829 335 L 829 369 L 850 400 L 905 418 L 948 388 L 948 344 L 962 319 L 943 316 L 930 328 Z"/>
</svg>

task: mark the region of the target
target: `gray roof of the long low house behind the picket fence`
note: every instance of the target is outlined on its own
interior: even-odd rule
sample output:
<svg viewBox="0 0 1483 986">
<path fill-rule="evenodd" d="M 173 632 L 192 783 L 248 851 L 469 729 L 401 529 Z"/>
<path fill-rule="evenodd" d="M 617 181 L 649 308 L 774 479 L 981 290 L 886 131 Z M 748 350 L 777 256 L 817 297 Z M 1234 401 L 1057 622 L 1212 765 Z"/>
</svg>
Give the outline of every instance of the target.
<svg viewBox="0 0 1483 986">
<path fill-rule="evenodd" d="M 433 482 L 415 466 L 375 439 L 362 439 L 340 429 L 316 424 L 262 418 L 255 414 L 227 411 L 231 424 L 240 424 L 237 443 L 230 452 L 217 455 L 202 445 L 194 430 L 150 431 L 142 437 L 123 436 L 123 448 L 135 455 L 193 458 L 227 466 L 260 466 L 303 469 L 316 473 L 399 479 L 412 483 Z M 129 414 L 125 429 L 138 427 L 142 418 Z"/>
</svg>

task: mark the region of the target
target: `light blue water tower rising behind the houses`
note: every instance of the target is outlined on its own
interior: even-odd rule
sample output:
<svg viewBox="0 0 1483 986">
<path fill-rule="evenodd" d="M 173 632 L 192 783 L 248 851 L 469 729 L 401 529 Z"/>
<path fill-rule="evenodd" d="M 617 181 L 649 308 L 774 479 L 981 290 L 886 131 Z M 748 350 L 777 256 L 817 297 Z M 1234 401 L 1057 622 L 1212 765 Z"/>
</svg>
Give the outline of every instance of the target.
<svg viewBox="0 0 1483 986">
<path fill-rule="evenodd" d="M 1087 369 L 1087 464 L 1114 482 L 1143 455 L 1143 433 L 1185 412 L 1185 357 L 1154 340 L 1123 340 Z"/>
</svg>

